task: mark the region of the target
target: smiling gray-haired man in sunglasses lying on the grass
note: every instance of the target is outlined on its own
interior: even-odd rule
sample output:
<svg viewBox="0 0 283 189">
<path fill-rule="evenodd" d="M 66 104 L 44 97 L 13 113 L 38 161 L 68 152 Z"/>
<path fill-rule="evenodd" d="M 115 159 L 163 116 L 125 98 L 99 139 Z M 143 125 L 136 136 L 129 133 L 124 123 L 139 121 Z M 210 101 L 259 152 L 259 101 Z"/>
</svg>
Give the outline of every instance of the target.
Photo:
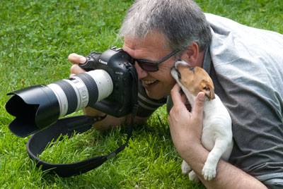
<svg viewBox="0 0 283 189">
<path fill-rule="evenodd" d="M 120 34 L 123 49 L 137 59 L 141 109 L 136 123 L 167 101 L 174 145 L 207 188 L 283 187 L 282 35 L 204 15 L 190 0 L 135 1 Z M 200 142 L 204 94 L 187 111 L 170 74 L 177 59 L 209 73 L 231 114 L 233 152 L 229 162 L 219 161 L 212 181 L 204 181 L 201 173 L 209 153 Z M 69 60 L 72 74 L 83 71 L 78 66 L 86 61 L 83 56 L 70 54 Z M 90 108 L 85 113 L 104 115 Z M 129 116 L 107 116 L 94 126 L 106 129 L 124 121 Z"/>
</svg>

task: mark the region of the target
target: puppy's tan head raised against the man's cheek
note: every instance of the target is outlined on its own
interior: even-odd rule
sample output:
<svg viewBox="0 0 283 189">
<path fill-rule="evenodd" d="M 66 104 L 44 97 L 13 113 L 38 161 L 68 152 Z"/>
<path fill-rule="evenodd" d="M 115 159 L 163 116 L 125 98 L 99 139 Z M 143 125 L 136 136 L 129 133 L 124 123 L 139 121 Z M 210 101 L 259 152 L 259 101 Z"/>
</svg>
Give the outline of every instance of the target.
<svg viewBox="0 0 283 189">
<path fill-rule="evenodd" d="M 204 69 L 190 66 L 185 61 L 176 61 L 171 69 L 171 75 L 180 87 L 185 87 L 191 94 L 197 96 L 199 92 L 204 92 L 208 99 L 215 98 L 212 78 Z"/>
</svg>

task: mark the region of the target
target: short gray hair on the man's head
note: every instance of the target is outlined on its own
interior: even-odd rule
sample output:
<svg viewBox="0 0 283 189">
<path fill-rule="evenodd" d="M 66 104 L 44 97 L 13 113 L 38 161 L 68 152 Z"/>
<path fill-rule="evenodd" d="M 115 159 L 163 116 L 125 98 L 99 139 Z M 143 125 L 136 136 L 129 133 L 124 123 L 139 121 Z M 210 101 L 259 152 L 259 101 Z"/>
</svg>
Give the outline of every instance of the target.
<svg viewBox="0 0 283 189">
<path fill-rule="evenodd" d="M 204 13 L 192 0 L 136 0 L 125 16 L 120 37 L 144 39 L 150 32 L 161 32 L 171 49 L 197 42 L 203 51 L 212 39 Z"/>
</svg>

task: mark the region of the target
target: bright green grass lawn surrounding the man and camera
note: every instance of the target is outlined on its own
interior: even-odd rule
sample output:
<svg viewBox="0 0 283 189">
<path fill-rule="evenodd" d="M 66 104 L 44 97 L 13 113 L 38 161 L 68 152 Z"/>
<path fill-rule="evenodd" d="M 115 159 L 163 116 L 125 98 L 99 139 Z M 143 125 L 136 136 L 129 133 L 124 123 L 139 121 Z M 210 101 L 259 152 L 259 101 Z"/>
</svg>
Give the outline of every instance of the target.
<svg viewBox="0 0 283 189">
<path fill-rule="evenodd" d="M 204 1 L 204 12 L 283 33 L 281 0 Z M 204 188 L 180 171 L 182 159 L 171 141 L 166 107 L 134 130 L 117 157 L 80 176 L 60 178 L 42 171 L 25 150 L 28 138 L 8 130 L 6 93 L 68 78 L 71 52 L 86 55 L 122 46 L 117 32 L 132 0 L 0 0 L 0 187 L 1 188 Z M 81 112 L 76 113 L 81 114 Z M 158 118 L 160 117 L 160 119 Z M 107 154 L 126 140 L 124 127 L 59 142 L 41 158 L 67 163 Z"/>
</svg>

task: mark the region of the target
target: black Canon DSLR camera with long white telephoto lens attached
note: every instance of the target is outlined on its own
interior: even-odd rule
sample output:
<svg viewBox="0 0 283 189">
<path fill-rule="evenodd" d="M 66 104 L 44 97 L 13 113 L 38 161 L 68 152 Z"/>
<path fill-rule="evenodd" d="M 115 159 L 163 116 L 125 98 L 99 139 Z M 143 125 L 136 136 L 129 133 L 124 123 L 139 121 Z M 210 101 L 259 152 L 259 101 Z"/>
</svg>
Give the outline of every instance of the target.
<svg viewBox="0 0 283 189">
<path fill-rule="evenodd" d="M 12 94 L 6 111 L 16 118 L 9 129 L 25 137 L 51 126 L 59 117 L 86 106 L 115 117 L 132 113 L 137 99 L 137 72 L 126 51 L 112 47 L 86 56 L 87 72 L 50 85 L 26 87 Z"/>
</svg>

